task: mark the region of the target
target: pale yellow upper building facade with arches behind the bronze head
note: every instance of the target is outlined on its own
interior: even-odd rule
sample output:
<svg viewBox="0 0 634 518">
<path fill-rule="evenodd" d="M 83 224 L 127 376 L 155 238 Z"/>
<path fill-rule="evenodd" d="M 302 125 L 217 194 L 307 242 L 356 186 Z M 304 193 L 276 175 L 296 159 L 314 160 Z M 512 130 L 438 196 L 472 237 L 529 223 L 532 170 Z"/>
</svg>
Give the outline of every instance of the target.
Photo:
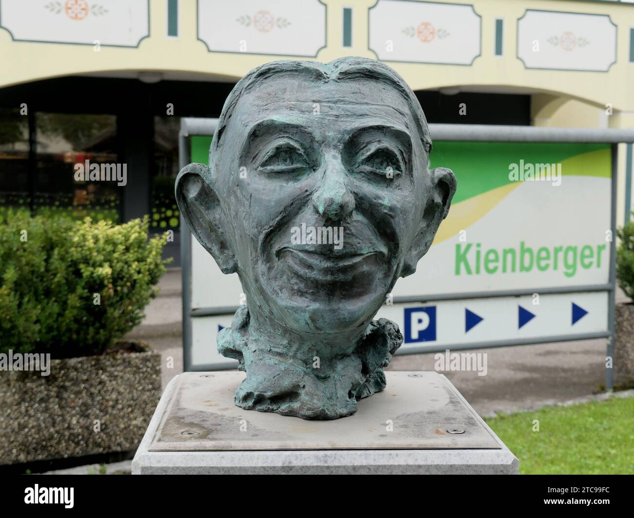
<svg viewBox="0 0 634 518">
<path fill-rule="evenodd" d="M 634 28 L 634 6 L 623 2 L 610 1 L 576 1 L 576 0 L 476 0 L 472 4 L 456 4 L 443 2 L 424 2 L 416 0 L 258 0 L 239 1 L 226 3 L 221 0 L 181 0 L 171 3 L 168 0 L 138 0 L 120 4 L 138 4 L 139 18 L 126 19 L 126 13 L 122 13 L 121 19 L 108 20 L 105 24 L 95 25 L 94 30 L 88 30 L 83 41 L 72 41 L 67 28 L 53 31 L 47 41 L 56 39 L 56 42 L 38 41 L 41 32 L 34 24 L 34 18 L 44 18 L 42 24 L 51 25 L 58 23 L 61 18 L 72 30 L 73 25 L 91 23 L 95 16 L 87 13 L 85 18 L 72 19 L 64 4 L 81 5 L 88 3 L 81 0 L 72 2 L 50 2 L 46 0 L 34 0 L 23 2 L 21 0 L 3 0 L 0 2 L 2 11 L 0 14 L 0 56 L 3 61 L 3 72 L 0 76 L 0 87 L 20 84 L 50 77 L 63 75 L 83 75 L 89 73 L 115 73 L 115 72 L 162 72 L 165 77 L 199 77 L 201 80 L 221 80 L 235 82 L 245 73 L 249 72 L 261 63 L 275 59 L 285 58 L 313 58 L 318 61 L 330 61 L 340 56 L 365 56 L 367 58 L 380 58 L 388 62 L 410 84 L 413 90 L 441 89 L 447 87 L 465 87 L 476 91 L 488 91 L 500 87 L 508 89 L 520 89 L 531 91 L 534 95 L 566 96 L 578 99 L 584 103 L 605 108 L 606 104 L 612 104 L 617 117 L 611 118 L 611 126 L 624 124 L 623 120 L 634 113 L 634 96 L 632 85 L 634 84 L 634 64 L 631 61 L 631 28 Z M 117 4 L 117 2 L 103 0 L 103 4 Z M 41 4 L 41 12 L 34 12 L 31 4 Z M 52 14 L 46 6 L 57 4 L 61 6 L 61 12 Z M 177 35 L 168 35 L 170 4 L 175 4 L 178 25 Z M 227 5 L 235 6 L 233 11 L 243 12 L 244 16 L 256 19 L 257 13 L 265 13 L 271 16 L 271 20 L 277 20 L 286 14 L 287 8 L 295 7 L 303 20 L 288 21 L 287 28 L 279 28 L 273 22 L 272 28 L 256 28 L 252 22 L 250 26 L 238 23 L 233 18 L 234 13 L 222 13 L 228 10 Z M 207 10 L 204 6 L 209 5 Z M 411 19 L 407 8 L 414 6 L 413 15 L 420 19 Z M 10 9 L 13 8 L 13 9 Z M 306 13 L 304 9 L 314 12 Z M 388 9 L 389 7 L 389 9 Z M 438 11 L 439 8 L 450 7 L 448 13 Z M 344 46 L 344 9 L 351 9 L 351 44 Z M 378 12 L 379 9 L 383 12 Z M 89 9 L 89 8 L 88 8 Z M 257 9 L 256 12 L 252 12 Z M 434 10 L 436 9 L 436 10 Z M 22 24 L 32 27 L 30 30 L 20 30 L 14 25 L 15 15 L 9 16 L 10 11 L 23 16 Z M 377 11 L 376 13 L 374 11 Z M 527 13 L 533 13 L 534 21 L 526 22 Z M 128 13 L 129 14 L 129 13 Z M 217 16 L 221 14 L 221 16 Z M 384 34 L 372 35 L 371 28 L 380 28 L 380 16 L 387 15 L 398 20 L 392 23 L 394 27 L 413 28 L 428 23 L 433 30 L 434 16 L 444 16 L 447 23 L 447 32 L 450 35 L 446 39 L 455 37 L 461 43 L 458 46 L 470 46 L 477 44 L 479 48 L 468 49 L 467 54 L 473 54 L 471 62 L 451 63 L 451 49 L 441 53 L 440 60 L 443 63 L 434 63 L 436 58 L 426 58 L 420 55 L 420 63 L 408 61 L 410 54 L 399 52 L 398 46 L 401 37 L 412 47 L 412 54 L 421 53 L 425 45 L 432 46 L 441 37 L 431 36 L 432 41 L 425 41 L 420 35 L 408 37 L 405 33 L 391 31 L 392 27 L 385 27 Z M 540 23 L 545 22 L 554 15 L 561 16 L 557 21 L 562 34 L 569 37 L 584 38 L 583 35 L 575 35 L 574 31 L 567 30 L 569 26 L 578 26 L 578 30 L 587 30 L 585 39 L 592 38 L 582 47 L 579 42 L 571 40 L 567 44 L 560 42 L 555 46 L 552 42 L 540 39 L 538 33 Z M 586 15 L 583 23 L 578 23 L 579 15 Z M 81 16 L 81 15 L 80 15 Z M 108 15 L 102 15 L 108 16 Z M 143 20 L 147 16 L 147 20 Z M 290 15 L 287 15 L 290 16 Z M 401 20 L 398 18 L 402 17 Z M 374 18 L 374 19 L 373 19 Z M 589 18 L 589 19 L 588 19 Z M 429 20 L 429 21 L 427 21 Z M 496 23 L 502 22 L 501 29 L 501 55 L 496 55 Z M 445 20 L 443 20 L 444 22 Z M 101 22 L 101 20 L 99 20 Z M 233 22 L 228 34 L 235 41 L 228 42 L 224 48 L 205 42 L 206 35 L 201 34 L 202 26 L 207 25 L 209 32 L 214 32 L 214 27 L 222 23 Z M 528 26 L 530 22 L 530 26 Z M 112 37 L 112 44 L 108 42 L 108 30 L 112 23 L 127 23 L 127 33 L 136 30 L 138 33 L 133 39 L 124 41 L 123 38 Z M 139 25 L 139 27 L 135 27 Z M 453 24 L 453 25 L 451 25 Z M 568 25 L 566 25 L 568 24 Z M 466 39 L 461 30 L 470 30 L 477 33 L 475 39 Z M 523 26 L 526 25 L 526 28 Z M 524 32 L 521 32 L 521 31 Z M 101 31 L 101 32 L 100 32 Z M 453 31 L 453 34 L 451 34 Z M 55 34 L 58 32 L 58 34 Z M 303 45 L 301 52 L 295 53 L 296 42 L 306 39 L 307 32 L 314 32 L 315 37 L 309 44 Z M 320 34 L 323 32 L 323 34 Z M 103 33 L 103 34 L 101 34 Z M 553 37 L 561 38 L 562 34 Z M 124 35 L 124 37 L 127 34 Z M 259 40 L 252 42 L 255 37 L 268 37 L 274 39 L 274 43 L 267 47 L 262 46 Z M 385 36 L 385 37 L 384 37 Z M 537 46 L 535 55 L 550 54 L 541 60 L 541 63 L 527 64 L 518 56 L 518 37 L 529 40 L 531 50 L 533 42 Z M 429 38 L 429 36 L 428 36 Z M 392 49 L 389 46 L 392 39 Z M 566 60 L 569 60 L 575 52 L 585 51 L 592 47 L 598 40 L 607 40 L 604 47 L 613 53 L 609 55 L 597 55 L 592 61 L 586 60 L 586 70 L 576 68 L 574 72 L 583 70 L 585 73 L 573 73 L 565 70 Z M 135 41 L 136 40 L 136 41 Z M 101 42 L 101 45 L 100 45 Z M 133 45 L 134 43 L 134 45 Z M 242 43 L 242 47 L 240 47 Z M 311 47 L 312 44 L 312 47 Z M 394 47 L 396 44 L 396 48 Z M 566 47 L 572 47 L 568 49 Z M 610 47 L 614 46 L 612 49 Z M 235 47 L 235 52 L 228 49 Z M 279 47 L 276 49 L 276 47 Z M 263 49 L 265 52 L 261 52 Z M 562 50 L 563 49 L 563 50 Z M 277 52 L 273 52 L 277 50 Z M 426 49 L 424 49 L 426 50 Z M 599 53 L 602 49 L 598 49 Z M 306 56 L 313 52 L 312 56 Z M 555 56 L 559 51 L 560 56 Z M 444 53 L 444 54 L 443 54 Z M 433 51 L 430 53 L 433 54 Z M 586 53 L 590 56 L 595 53 Z M 392 56 L 394 56 L 393 59 Z M 407 62 L 406 62 L 407 61 Z M 541 65 L 541 66 L 540 66 Z M 559 68 L 556 68 L 559 65 Z M 546 67 L 549 68 L 546 68 Z M 552 67 L 552 68 L 550 68 Z M 603 70 L 600 70 L 603 69 Z M 547 108 L 548 102 L 541 100 L 544 105 L 534 114 L 537 119 L 540 113 L 550 114 L 552 108 Z M 630 121 L 631 122 L 631 121 Z"/>
</svg>

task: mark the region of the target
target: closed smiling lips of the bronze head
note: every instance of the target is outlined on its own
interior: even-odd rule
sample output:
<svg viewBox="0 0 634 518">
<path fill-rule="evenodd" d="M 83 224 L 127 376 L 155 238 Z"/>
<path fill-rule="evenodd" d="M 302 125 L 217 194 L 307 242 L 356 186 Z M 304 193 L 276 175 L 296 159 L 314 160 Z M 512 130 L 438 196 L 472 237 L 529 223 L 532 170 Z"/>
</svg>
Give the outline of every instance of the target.
<svg viewBox="0 0 634 518">
<path fill-rule="evenodd" d="M 278 251 L 278 257 L 285 258 L 298 273 L 309 274 L 309 277 L 320 277 L 324 281 L 346 281 L 363 270 L 369 270 L 382 260 L 384 253 L 380 251 L 356 252 L 346 250 L 306 250 L 285 246 Z M 316 274 L 316 275 L 315 275 Z"/>
</svg>

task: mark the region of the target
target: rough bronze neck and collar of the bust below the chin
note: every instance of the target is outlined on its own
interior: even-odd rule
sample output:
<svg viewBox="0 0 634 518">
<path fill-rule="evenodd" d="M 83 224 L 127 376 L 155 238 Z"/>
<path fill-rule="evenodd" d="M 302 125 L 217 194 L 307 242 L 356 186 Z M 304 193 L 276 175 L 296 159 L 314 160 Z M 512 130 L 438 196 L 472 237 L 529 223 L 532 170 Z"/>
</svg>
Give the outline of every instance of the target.
<svg viewBox="0 0 634 518">
<path fill-rule="evenodd" d="M 357 401 L 385 388 L 383 367 L 403 337 L 385 319 L 373 321 L 351 353 L 331 358 L 276 355 L 250 340 L 249 312 L 236 312 L 232 328 L 217 338 L 218 350 L 240 362 L 247 377 L 236 389 L 238 407 L 294 415 L 302 419 L 337 419 L 354 414 Z M 252 342 L 256 342 L 255 345 Z M 306 350 L 310 347 L 306 344 Z"/>
</svg>

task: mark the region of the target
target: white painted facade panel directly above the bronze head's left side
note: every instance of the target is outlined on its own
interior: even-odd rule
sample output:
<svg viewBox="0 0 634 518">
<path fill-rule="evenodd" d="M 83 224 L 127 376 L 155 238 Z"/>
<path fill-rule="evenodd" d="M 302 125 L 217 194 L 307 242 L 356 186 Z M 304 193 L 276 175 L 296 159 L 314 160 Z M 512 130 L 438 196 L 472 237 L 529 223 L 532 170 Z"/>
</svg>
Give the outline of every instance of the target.
<svg viewBox="0 0 634 518">
<path fill-rule="evenodd" d="M 212 52 L 310 56 L 326 46 L 319 0 L 198 0 L 198 39 Z"/>
</svg>

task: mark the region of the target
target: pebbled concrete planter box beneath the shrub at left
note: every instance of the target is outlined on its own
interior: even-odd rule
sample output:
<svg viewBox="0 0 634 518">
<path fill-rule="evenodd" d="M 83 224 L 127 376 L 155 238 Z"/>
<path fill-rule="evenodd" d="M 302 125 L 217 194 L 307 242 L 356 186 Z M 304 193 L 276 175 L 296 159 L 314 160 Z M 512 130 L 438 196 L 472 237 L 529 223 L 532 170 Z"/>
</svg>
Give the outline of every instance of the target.
<svg viewBox="0 0 634 518">
<path fill-rule="evenodd" d="M 134 450 L 160 393 L 160 355 L 142 343 L 51 360 L 49 376 L 0 372 L 0 465 Z"/>
</svg>

